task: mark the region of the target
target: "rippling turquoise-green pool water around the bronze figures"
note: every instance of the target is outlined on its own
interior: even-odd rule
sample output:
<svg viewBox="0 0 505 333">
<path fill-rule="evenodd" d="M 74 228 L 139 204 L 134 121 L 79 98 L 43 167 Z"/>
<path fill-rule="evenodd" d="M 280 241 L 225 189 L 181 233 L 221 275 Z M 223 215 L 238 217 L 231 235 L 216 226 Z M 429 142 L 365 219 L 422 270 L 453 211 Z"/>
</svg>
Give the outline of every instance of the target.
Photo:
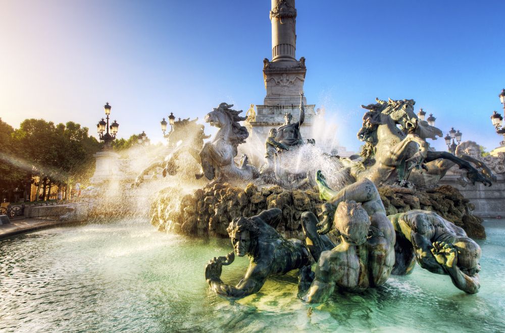
<svg viewBox="0 0 505 333">
<path fill-rule="evenodd" d="M 42 230 L 0 241 L 0 331 L 505 331 L 505 221 L 485 223 L 481 289 L 416 267 L 379 289 L 296 299 L 294 272 L 230 303 L 211 293 L 204 265 L 228 240 L 190 240 L 147 221 Z M 222 279 L 237 283 L 237 258 Z"/>
</svg>

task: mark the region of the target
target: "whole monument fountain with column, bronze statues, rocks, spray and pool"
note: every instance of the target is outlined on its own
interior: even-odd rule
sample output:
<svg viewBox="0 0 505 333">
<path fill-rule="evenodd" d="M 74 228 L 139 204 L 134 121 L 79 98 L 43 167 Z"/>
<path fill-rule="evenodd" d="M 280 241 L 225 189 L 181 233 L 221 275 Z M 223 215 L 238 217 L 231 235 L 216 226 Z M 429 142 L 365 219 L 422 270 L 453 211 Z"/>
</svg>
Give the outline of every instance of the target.
<svg viewBox="0 0 505 333">
<path fill-rule="evenodd" d="M 294 1 L 270 18 L 258 112 L 221 103 L 212 138 L 172 119 L 167 146 L 97 155 L 65 217 L 85 224 L 0 242 L 0 330 L 505 330 L 503 227 L 438 186 L 455 165 L 490 185 L 503 159 L 434 151 L 410 99 L 364 106 L 361 154 L 332 154 L 309 135 Z"/>
</svg>

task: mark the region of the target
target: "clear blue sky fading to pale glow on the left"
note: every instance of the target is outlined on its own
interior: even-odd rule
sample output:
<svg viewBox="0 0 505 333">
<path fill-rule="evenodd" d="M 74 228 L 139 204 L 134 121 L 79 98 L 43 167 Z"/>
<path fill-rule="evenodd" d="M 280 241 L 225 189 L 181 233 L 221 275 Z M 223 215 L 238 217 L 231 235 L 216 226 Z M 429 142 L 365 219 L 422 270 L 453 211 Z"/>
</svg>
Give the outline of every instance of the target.
<svg viewBox="0 0 505 333">
<path fill-rule="evenodd" d="M 505 2 L 297 0 L 305 93 L 358 150 L 361 104 L 412 98 L 444 132 L 488 148 L 502 140 Z M 0 117 L 79 122 L 95 133 L 112 105 L 119 136 L 160 120 L 200 119 L 220 102 L 263 104 L 270 0 L 0 0 Z M 444 149 L 443 139 L 435 147 Z"/>
</svg>

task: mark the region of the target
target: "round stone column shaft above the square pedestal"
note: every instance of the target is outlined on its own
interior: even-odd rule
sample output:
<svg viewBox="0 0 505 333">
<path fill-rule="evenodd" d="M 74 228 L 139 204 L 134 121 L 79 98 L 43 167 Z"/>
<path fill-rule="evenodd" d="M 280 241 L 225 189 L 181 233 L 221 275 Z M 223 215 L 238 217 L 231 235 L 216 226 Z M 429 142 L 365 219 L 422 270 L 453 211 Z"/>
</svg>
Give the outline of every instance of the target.
<svg viewBox="0 0 505 333">
<path fill-rule="evenodd" d="M 272 0 L 272 62 L 296 62 L 296 9 L 294 0 Z"/>
</svg>

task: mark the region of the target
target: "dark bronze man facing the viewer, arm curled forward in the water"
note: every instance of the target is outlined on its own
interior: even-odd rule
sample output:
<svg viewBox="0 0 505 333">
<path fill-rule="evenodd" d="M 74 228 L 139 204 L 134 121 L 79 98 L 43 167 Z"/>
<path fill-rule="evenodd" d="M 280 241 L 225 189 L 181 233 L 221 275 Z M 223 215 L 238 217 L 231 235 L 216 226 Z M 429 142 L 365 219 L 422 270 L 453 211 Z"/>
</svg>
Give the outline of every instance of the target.
<svg viewBox="0 0 505 333">
<path fill-rule="evenodd" d="M 225 257 L 213 258 L 205 268 L 205 278 L 211 289 L 227 299 L 239 299 L 257 293 L 269 275 L 285 274 L 310 264 L 309 251 L 298 239 L 284 239 L 275 227 L 282 219 L 282 211 L 272 208 L 251 218 L 234 219 L 228 233 L 234 252 Z M 272 227 L 273 226 L 273 227 Z M 250 258 L 245 276 L 233 287 L 221 281 L 223 264 L 234 257 Z"/>
</svg>

